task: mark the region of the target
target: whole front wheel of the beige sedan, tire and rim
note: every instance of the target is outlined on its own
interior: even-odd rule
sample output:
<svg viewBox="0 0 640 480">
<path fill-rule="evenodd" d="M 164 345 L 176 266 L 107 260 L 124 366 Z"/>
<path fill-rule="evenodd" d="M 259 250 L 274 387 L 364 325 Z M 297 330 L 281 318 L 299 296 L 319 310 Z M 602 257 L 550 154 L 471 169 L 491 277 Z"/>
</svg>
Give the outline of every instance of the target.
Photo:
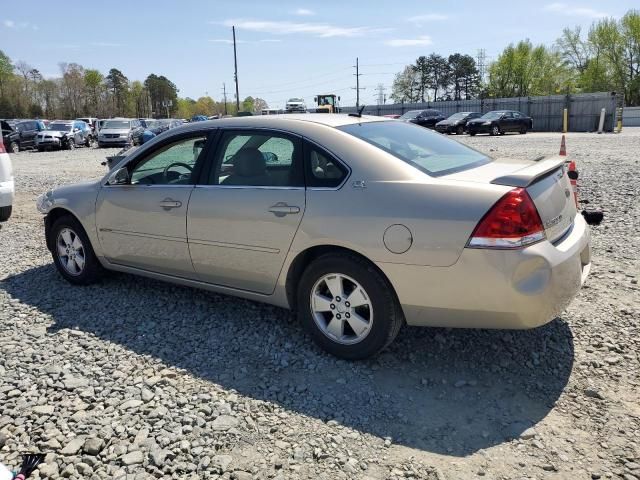
<svg viewBox="0 0 640 480">
<path fill-rule="evenodd" d="M 70 215 L 60 217 L 49 231 L 47 244 L 60 275 L 75 285 L 90 285 L 103 274 L 89 237 L 80 222 Z"/>
</svg>

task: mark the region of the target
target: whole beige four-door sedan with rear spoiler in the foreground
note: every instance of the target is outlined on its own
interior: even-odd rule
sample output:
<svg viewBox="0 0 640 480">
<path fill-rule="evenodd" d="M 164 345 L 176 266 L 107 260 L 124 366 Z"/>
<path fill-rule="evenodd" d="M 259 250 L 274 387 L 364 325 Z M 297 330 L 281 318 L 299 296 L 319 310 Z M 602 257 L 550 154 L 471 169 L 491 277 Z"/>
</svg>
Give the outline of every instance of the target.
<svg viewBox="0 0 640 480">
<path fill-rule="evenodd" d="M 347 359 L 405 322 L 542 325 L 591 262 L 563 157 L 493 159 L 379 117 L 193 123 L 37 204 L 69 282 L 118 270 L 290 308 Z"/>
</svg>

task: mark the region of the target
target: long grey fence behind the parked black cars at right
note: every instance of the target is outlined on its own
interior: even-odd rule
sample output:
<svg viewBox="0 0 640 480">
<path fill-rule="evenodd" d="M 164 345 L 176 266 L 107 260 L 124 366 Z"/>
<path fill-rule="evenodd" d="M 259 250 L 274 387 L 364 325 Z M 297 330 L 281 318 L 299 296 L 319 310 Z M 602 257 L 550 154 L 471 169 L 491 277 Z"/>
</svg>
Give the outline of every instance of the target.
<svg viewBox="0 0 640 480">
<path fill-rule="evenodd" d="M 394 103 L 367 105 L 365 115 L 402 115 L 409 110 L 433 108 L 449 116 L 457 112 L 481 112 L 492 110 L 516 110 L 533 118 L 533 131 L 562 131 L 563 112 L 568 111 L 568 129 L 571 132 L 593 132 L 598 130 L 600 112 L 605 109 L 604 130 L 612 132 L 615 127 L 615 93 L 584 93 L 575 95 L 547 95 L 543 97 L 478 98 L 474 100 L 448 100 L 424 103 Z M 355 113 L 356 107 L 342 107 L 342 113 Z"/>
</svg>

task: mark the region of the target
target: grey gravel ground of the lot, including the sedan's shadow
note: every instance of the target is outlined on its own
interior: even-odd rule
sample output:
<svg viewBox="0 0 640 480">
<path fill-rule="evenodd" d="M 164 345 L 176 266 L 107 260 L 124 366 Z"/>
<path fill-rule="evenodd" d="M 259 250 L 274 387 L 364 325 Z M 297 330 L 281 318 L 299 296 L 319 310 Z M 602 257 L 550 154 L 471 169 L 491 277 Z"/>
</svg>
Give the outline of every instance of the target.
<svg viewBox="0 0 640 480">
<path fill-rule="evenodd" d="M 555 154 L 559 134 L 463 137 Z M 36 212 L 115 150 L 12 156 L 0 230 L 0 462 L 34 478 L 640 479 L 640 129 L 570 134 L 602 208 L 578 298 L 530 331 L 405 328 L 379 357 L 315 348 L 281 309 L 114 274 L 54 270 Z"/>
</svg>

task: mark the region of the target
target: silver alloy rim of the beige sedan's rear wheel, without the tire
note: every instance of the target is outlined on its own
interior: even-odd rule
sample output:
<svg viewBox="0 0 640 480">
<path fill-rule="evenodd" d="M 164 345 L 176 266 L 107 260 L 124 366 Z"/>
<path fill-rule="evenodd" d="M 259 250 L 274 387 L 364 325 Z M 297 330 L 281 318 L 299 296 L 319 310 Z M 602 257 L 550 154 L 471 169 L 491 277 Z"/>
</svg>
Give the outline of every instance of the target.
<svg viewBox="0 0 640 480">
<path fill-rule="evenodd" d="M 320 331 L 343 345 L 359 343 L 373 326 L 373 302 L 353 278 L 323 275 L 311 289 L 311 314 Z"/>
</svg>

